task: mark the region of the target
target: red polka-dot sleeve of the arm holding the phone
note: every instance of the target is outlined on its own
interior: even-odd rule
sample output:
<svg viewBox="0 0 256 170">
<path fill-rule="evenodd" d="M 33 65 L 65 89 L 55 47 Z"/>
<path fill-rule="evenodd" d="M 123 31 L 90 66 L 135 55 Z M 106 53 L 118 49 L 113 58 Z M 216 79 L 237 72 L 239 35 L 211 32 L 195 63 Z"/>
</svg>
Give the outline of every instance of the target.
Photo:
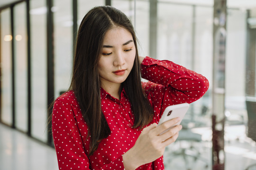
<svg viewBox="0 0 256 170">
<path fill-rule="evenodd" d="M 56 100 L 52 115 L 52 131 L 59 170 L 90 170 L 88 151 L 83 147 L 81 129 L 77 121 L 77 110 L 72 104 Z M 84 127 L 87 128 L 87 127 Z M 88 128 L 87 131 L 88 133 Z M 82 134 L 87 135 L 86 133 Z M 88 143 L 89 144 L 89 143 Z M 105 164 L 101 170 L 124 170 L 122 155 Z"/>
</svg>

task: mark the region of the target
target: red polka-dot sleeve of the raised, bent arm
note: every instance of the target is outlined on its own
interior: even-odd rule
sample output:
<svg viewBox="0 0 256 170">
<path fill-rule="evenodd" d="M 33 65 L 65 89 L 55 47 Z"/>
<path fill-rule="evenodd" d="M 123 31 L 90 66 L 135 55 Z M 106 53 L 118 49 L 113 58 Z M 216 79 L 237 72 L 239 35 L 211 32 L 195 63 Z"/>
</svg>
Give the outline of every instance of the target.
<svg viewBox="0 0 256 170">
<path fill-rule="evenodd" d="M 142 85 L 158 117 L 167 106 L 192 103 L 209 88 L 206 77 L 168 60 L 146 57 L 141 64 L 141 76 L 149 81 Z"/>
</svg>

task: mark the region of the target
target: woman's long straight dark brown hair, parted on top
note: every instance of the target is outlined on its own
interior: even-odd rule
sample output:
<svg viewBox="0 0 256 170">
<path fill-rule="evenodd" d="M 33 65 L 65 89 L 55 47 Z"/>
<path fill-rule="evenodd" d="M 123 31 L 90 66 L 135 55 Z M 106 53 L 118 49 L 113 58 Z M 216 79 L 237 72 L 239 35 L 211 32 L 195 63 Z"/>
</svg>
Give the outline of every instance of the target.
<svg viewBox="0 0 256 170">
<path fill-rule="evenodd" d="M 104 36 L 108 30 L 116 26 L 123 27 L 132 34 L 136 47 L 133 68 L 128 78 L 122 83 L 135 117 L 133 127 L 143 128 L 153 118 L 153 108 L 141 86 L 136 35 L 130 20 L 123 12 L 110 6 L 92 8 L 82 19 L 78 30 L 73 76 L 69 87 L 77 97 L 83 118 L 90 131 L 88 156 L 95 152 L 103 138 L 110 135 L 110 128 L 101 112 L 101 82 L 97 68 Z"/>
</svg>

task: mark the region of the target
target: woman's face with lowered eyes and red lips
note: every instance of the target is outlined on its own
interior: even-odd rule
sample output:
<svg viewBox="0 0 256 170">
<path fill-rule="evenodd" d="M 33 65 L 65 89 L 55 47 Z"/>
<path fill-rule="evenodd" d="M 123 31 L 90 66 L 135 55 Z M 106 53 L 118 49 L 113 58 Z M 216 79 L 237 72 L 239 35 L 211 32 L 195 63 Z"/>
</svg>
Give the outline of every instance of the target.
<svg viewBox="0 0 256 170">
<path fill-rule="evenodd" d="M 107 31 L 98 64 L 101 86 L 111 87 L 124 82 L 133 67 L 135 55 L 130 32 L 119 26 Z"/>
</svg>

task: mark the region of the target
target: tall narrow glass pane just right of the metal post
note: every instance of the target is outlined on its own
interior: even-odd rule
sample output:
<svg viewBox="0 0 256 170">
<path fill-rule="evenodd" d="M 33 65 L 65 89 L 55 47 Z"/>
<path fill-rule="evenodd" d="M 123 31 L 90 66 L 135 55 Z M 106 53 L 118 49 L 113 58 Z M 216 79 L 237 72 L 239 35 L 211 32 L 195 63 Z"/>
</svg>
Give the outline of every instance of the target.
<svg viewBox="0 0 256 170">
<path fill-rule="evenodd" d="M 245 10 L 228 9 L 227 45 L 226 45 L 226 110 L 229 119 L 237 117 L 243 122 L 246 113 L 246 38 L 247 12 Z M 238 69 L 239 68 L 239 69 Z M 234 76 L 234 74 L 236 76 Z M 238 81 L 239 80 L 239 81 Z"/>
</svg>

